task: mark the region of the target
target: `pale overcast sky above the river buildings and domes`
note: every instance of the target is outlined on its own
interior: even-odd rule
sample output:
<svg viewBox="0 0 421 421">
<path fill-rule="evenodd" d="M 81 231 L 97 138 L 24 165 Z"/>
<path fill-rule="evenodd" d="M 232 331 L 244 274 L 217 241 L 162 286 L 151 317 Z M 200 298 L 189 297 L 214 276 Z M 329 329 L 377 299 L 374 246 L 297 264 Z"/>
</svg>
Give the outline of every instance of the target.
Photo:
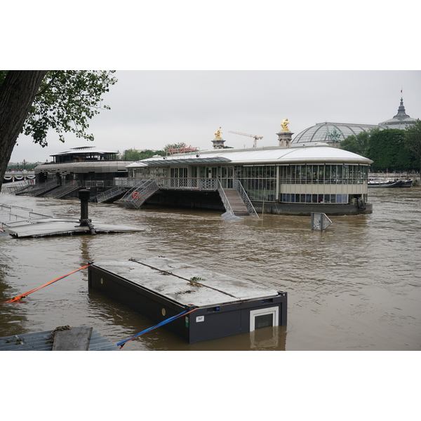
<svg viewBox="0 0 421 421">
<path fill-rule="evenodd" d="M 377 124 L 403 104 L 411 117 L 421 117 L 420 71 L 117 71 L 116 85 L 104 95 L 111 110 L 94 116 L 89 133 L 95 142 L 51 131 L 48 147 L 23 135 L 12 162 L 46 161 L 71 147 L 95 145 L 102 149 L 163 149 L 168 143 L 212 149 L 221 127 L 225 145 L 277 145 L 282 119 L 290 131 L 322 121 Z M 295 136 L 293 135 L 293 137 Z"/>
</svg>

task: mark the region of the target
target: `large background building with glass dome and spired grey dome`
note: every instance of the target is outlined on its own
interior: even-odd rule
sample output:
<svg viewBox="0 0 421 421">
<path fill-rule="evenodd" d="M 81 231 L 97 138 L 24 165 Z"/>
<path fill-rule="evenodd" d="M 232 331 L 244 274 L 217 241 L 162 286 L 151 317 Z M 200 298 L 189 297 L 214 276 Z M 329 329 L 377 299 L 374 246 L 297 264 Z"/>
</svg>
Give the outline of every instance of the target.
<svg viewBox="0 0 421 421">
<path fill-rule="evenodd" d="M 370 131 L 373 128 L 399 128 L 404 130 L 410 124 L 415 123 L 416 119 L 411 119 L 403 107 L 403 99 L 398 108 L 398 114 L 392 119 L 382 121 L 378 124 L 354 124 L 354 123 L 316 123 L 315 126 L 306 128 L 293 138 L 291 145 L 314 145 L 319 142 L 328 143 L 333 147 L 339 147 L 340 142 L 348 136 L 356 136 L 363 131 Z"/>
</svg>

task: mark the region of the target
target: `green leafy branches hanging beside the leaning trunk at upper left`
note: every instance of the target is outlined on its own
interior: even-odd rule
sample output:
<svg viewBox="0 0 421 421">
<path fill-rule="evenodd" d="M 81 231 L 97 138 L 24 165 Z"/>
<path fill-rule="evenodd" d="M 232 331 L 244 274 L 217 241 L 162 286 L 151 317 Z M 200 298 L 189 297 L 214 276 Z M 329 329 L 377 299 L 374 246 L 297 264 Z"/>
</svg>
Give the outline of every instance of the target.
<svg viewBox="0 0 421 421">
<path fill-rule="evenodd" d="M 64 133 L 69 132 L 93 140 L 93 135 L 86 133 L 88 120 L 101 109 L 109 109 L 102 104 L 102 95 L 117 82 L 114 72 L 49 71 L 39 86 L 21 133 L 31 136 L 42 147 L 48 145 L 46 137 L 50 128 L 58 133 L 61 142 L 65 142 Z"/>
</svg>

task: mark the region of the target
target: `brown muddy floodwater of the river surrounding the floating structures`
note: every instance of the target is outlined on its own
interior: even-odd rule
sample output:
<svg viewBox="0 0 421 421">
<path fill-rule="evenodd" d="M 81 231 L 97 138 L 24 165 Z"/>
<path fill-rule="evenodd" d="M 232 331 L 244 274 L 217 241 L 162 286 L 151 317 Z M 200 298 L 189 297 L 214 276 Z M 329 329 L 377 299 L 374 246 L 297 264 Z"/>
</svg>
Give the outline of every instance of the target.
<svg viewBox="0 0 421 421">
<path fill-rule="evenodd" d="M 89 217 L 142 232 L 13 239 L 0 236 L 0 301 L 88 262 L 163 255 L 288 292 L 288 325 L 187 344 L 163 328 L 128 342 L 147 350 L 420 350 L 421 188 L 369 191 L 373 213 L 333 216 L 325 232 L 310 218 L 260 215 L 222 220 L 207 210 L 127 210 L 92 203 Z M 79 218 L 78 199 L 0 195 L 0 203 Z M 152 323 L 88 290 L 72 274 L 0 305 L 0 336 L 89 325 L 114 343 Z"/>
</svg>

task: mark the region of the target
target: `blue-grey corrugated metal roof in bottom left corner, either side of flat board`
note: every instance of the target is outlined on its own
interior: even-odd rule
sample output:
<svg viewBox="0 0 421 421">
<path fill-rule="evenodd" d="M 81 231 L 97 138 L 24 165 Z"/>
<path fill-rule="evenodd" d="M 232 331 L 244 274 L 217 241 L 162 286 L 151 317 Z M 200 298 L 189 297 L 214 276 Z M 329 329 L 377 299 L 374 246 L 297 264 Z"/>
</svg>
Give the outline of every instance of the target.
<svg viewBox="0 0 421 421">
<path fill-rule="evenodd" d="M 51 351 L 53 349 L 54 330 L 24 333 L 0 338 L 0 351 Z M 96 330 L 92 331 L 88 351 L 118 351 L 119 347 Z"/>
</svg>

